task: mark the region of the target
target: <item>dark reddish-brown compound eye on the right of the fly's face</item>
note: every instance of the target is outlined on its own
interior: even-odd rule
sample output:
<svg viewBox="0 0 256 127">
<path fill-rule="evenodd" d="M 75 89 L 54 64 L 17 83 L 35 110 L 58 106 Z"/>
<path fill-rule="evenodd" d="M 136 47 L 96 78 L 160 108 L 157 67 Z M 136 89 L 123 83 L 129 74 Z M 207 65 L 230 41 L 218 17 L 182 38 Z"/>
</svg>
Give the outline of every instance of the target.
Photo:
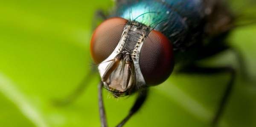
<svg viewBox="0 0 256 127">
<path fill-rule="evenodd" d="M 158 85 L 172 73 L 173 48 L 169 39 L 159 31 L 152 30 L 140 50 L 140 70 L 147 85 Z"/>
</svg>

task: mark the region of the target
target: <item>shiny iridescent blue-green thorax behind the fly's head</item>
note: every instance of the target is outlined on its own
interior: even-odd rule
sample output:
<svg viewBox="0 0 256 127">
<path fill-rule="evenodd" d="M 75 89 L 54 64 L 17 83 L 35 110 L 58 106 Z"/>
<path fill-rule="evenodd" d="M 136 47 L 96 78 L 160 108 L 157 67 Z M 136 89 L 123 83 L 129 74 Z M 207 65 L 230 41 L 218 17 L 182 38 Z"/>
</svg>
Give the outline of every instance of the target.
<svg viewBox="0 0 256 127">
<path fill-rule="evenodd" d="M 202 0 L 131 0 L 118 5 L 114 16 L 135 20 L 162 32 L 179 49 L 191 45 L 186 39 L 202 24 L 203 9 Z"/>
</svg>

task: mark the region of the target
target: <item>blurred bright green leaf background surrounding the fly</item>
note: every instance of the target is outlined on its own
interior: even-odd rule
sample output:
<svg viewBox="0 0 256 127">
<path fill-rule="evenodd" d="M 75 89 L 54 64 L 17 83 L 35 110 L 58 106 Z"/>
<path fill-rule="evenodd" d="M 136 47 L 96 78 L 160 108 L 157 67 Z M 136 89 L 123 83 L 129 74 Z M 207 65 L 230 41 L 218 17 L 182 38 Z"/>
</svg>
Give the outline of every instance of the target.
<svg viewBox="0 0 256 127">
<path fill-rule="evenodd" d="M 232 3 L 236 11 L 241 7 L 247 17 L 255 16 L 255 9 L 244 2 Z M 98 75 L 91 76 L 74 103 L 58 107 L 53 100 L 70 94 L 89 73 L 93 14 L 112 6 L 110 0 L 1 0 L 0 127 L 100 126 Z M 242 79 L 238 73 L 220 127 L 256 127 L 255 35 L 256 25 L 247 25 L 228 38 L 244 56 L 249 77 Z M 232 51 L 204 63 L 238 67 Z M 208 127 L 228 79 L 226 74 L 174 72 L 150 89 L 148 100 L 125 127 Z M 110 127 L 123 119 L 135 97 L 114 99 L 104 92 Z"/>
</svg>

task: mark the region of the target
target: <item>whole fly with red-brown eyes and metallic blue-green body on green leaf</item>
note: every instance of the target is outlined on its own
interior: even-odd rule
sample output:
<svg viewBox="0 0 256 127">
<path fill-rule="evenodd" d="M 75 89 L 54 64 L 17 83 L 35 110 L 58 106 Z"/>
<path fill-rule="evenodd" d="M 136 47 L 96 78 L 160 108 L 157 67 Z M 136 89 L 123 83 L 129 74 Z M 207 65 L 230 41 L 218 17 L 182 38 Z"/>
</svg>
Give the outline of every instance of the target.
<svg viewBox="0 0 256 127">
<path fill-rule="evenodd" d="M 217 126 L 236 71 L 229 66 L 201 67 L 196 62 L 231 48 L 224 39 L 235 20 L 222 0 L 116 0 L 115 10 L 95 29 L 90 43 L 101 76 L 101 126 L 107 127 L 102 88 L 116 97 L 139 93 L 116 126 L 122 127 L 143 105 L 148 88 L 164 82 L 175 65 L 185 73 L 230 74 L 212 119 L 212 126 Z"/>
</svg>

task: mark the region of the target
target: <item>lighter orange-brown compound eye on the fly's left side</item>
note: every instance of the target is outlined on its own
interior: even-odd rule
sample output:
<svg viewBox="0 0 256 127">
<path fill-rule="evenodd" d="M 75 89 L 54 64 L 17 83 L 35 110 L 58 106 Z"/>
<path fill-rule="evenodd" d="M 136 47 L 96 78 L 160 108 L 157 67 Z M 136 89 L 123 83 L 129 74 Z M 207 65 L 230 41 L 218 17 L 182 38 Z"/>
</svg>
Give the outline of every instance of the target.
<svg viewBox="0 0 256 127">
<path fill-rule="evenodd" d="M 90 53 L 96 64 L 107 59 L 121 39 L 128 20 L 113 17 L 101 23 L 93 32 L 90 42 Z"/>
</svg>

